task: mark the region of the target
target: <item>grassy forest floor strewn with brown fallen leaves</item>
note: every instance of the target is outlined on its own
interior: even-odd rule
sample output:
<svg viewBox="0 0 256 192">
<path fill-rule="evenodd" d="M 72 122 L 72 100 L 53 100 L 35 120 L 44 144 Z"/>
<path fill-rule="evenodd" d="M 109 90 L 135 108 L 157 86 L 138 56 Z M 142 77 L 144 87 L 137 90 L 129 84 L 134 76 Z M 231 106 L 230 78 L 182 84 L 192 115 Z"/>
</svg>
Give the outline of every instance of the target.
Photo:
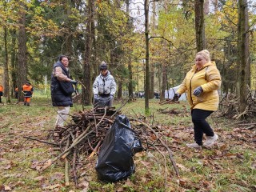
<svg viewBox="0 0 256 192">
<path fill-rule="evenodd" d="M 114 103 L 116 107 L 120 105 Z M 159 109 L 179 112 L 163 114 Z M 74 104 L 70 114 L 78 110 L 82 106 Z M 193 142 L 194 135 L 186 102 L 161 106 L 158 100 L 151 100 L 150 111 L 147 121 L 165 129 L 161 137 L 173 152 L 180 176 L 175 175 L 168 154 L 165 169 L 165 158 L 157 150 L 146 150 L 135 154 L 135 173 L 130 178 L 102 182 L 94 169 L 95 155 L 85 158 L 75 187 L 72 177 L 71 185 L 65 186 L 64 162 L 60 160 L 43 172 L 36 170 L 39 162 L 57 156 L 58 150 L 24 138 L 46 140 L 54 129 L 57 112 L 50 99 L 34 97 L 31 106 L 15 101 L 1 104 L 0 191 L 256 191 L 255 128 L 246 130 L 234 119 L 213 114 L 208 121 L 219 135 L 218 145 L 213 149 L 193 150 L 186 147 L 186 143 Z M 122 113 L 143 115 L 144 100 L 127 103 Z"/>
</svg>

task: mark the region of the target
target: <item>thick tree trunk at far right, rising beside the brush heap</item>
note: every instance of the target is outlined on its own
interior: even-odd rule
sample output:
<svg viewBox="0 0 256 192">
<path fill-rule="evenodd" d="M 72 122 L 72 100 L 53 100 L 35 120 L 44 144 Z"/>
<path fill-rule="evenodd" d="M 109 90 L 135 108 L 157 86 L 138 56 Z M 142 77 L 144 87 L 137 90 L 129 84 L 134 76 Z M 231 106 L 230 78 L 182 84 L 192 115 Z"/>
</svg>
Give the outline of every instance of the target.
<svg viewBox="0 0 256 192">
<path fill-rule="evenodd" d="M 249 64 L 249 43 L 248 43 L 248 14 L 247 8 L 247 0 L 238 0 L 238 63 L 240 64 L 240 78 L 239 78 L 239 86 L 240 86 L 240 112 L 242 113 L 246 110 L 246 85 L 247 78 L 246 76 L 250 76 L 247 74 L 246 66 Z"/>
</svg>

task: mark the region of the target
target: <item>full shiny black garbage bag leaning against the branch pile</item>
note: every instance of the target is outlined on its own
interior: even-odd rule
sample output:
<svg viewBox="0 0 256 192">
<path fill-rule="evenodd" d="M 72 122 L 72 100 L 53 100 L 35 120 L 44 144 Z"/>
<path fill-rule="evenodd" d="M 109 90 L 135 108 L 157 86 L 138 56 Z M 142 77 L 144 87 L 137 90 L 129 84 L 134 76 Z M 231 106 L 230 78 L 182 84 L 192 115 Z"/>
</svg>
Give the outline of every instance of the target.
<svg viewBox="0 0 256 192">
<path fill-rule="evenodd" d="M 118 115 L 99 150 L 96 171 L 107 182 L 129 177 L 135 171 L 133 156 L 142 151 L 142 143 L 125 115 Z"/>
</svg>

